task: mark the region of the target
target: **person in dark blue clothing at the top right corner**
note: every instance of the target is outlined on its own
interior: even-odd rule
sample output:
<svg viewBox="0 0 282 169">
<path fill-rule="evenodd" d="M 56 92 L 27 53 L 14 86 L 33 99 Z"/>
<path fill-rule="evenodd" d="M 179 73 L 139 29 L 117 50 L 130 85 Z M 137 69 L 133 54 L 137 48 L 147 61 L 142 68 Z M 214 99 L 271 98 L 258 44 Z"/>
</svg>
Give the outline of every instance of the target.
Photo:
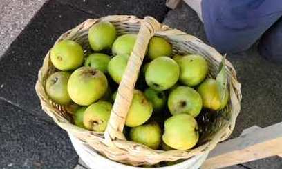
<svg viewBox="0 0 282 169">
<path fill-rule="evenodd" d="M 282 63 L 282 0 L 186 0 L 204 23 L 207 39 L 222 53 L 259 52 Z"/>
</svg>

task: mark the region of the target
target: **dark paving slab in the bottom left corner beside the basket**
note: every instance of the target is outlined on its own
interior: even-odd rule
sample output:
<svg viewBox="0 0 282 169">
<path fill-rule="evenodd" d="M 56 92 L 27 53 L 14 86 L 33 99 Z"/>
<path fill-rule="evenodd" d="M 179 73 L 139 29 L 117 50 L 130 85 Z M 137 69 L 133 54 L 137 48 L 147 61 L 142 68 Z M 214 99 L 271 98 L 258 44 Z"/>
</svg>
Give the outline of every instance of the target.
<svg viewBox="0 0 282 169">
<path fill-rule="evenodd" d="M 77 154 L 64 130 L 0 100 L 1 168 L 74 168 Z"/>
</svg>

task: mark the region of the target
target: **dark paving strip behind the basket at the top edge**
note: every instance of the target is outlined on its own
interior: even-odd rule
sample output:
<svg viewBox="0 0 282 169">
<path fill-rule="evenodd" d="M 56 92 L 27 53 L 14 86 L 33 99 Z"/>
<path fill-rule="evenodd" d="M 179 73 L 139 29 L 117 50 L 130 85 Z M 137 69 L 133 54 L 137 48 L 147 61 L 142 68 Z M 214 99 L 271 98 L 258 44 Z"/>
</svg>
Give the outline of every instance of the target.
<svg viewBox="0 0 282 169">
<path fill-rule="evenodd" d="M 92 14 L 93 18 L 104 17 L 109 14 L 133 14 L 140 18 L 152 16 L 158 21 L 162 21 L 169 10 L 165 6 L 165 0 L 66 0 L 61 2 L 84 10 Z"/>
</svg>

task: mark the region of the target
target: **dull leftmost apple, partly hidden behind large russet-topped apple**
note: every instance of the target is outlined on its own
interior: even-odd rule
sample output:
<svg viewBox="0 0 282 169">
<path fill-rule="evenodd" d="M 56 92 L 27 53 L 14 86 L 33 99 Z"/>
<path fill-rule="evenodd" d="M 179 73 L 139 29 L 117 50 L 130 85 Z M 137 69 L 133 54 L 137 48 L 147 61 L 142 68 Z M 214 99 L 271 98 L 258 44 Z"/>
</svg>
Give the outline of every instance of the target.
<svg viewBox="0 0 282 169">
<path fill-rule="evenodd" d="M 71 76 L 68 72 L 55 72 L 46 80 L 47 95 L 61 105 L 67 105 L 71 102 L 71 97 L 68 95 L 68 79 Z"/>
</svg>

